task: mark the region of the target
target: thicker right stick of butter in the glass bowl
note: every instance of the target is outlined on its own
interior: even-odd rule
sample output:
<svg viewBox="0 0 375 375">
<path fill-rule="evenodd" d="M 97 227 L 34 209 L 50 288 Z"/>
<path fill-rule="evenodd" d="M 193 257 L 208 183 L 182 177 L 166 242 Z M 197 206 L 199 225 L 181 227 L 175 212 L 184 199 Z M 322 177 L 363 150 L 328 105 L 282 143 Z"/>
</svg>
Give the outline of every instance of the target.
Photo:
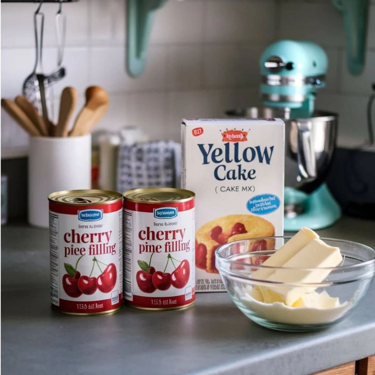
<svg viewBox="0 0 375 375">
<path fill-rule="evenodd" d="M 277 252 L 275 254 L 277 254 Z M 341 262 L 342 256 L 339 248 L 329 246 L 322 240 L 316 238 L 310 241 L 302 250 L 297 252 L 296 255 L 282 265 L 282 267 L 289 267 L 289 269 L 276 270 L 267 278 L 267 281 L 285 284 L 319 284 L 330 274 L 331 270 L 303 269 L 336 267 Z M 287 306 L 292 306 L 305 293 L 310 293 L 316 289 L 316 287 L 286 285 L 258 287 L 262 293 L 264 302 L 284 302 Z"/>
</svg>

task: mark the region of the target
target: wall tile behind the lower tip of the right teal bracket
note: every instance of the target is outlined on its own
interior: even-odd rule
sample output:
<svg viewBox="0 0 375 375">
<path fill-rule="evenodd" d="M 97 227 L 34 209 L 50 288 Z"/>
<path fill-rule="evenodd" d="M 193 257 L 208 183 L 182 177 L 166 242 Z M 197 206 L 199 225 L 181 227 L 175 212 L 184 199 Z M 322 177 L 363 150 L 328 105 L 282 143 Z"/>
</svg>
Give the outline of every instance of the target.
<svg viewBox="0 0 375 375">
<path fill-rule="evenodd" d="M 344 60 L 346 55 L 344 55 Z M 375 51 L 368 51 L 366 55 L 366 65 L 362 74 L 353 76 L 346 69 L 346 61 L 342 64 L 345 66 L 341 76 L 341 92 L 369 95 L 372 92 L 372 84 L 375 83 Z"/>
</svg>

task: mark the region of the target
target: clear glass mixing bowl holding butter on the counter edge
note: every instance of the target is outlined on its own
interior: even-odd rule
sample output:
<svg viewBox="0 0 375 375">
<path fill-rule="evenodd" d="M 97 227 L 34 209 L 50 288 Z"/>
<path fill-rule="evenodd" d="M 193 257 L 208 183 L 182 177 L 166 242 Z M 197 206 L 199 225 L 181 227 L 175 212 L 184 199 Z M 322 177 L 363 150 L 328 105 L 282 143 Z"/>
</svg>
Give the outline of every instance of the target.
<svg viewBox="0 0 375 375">
<path fill-rule="evenodd" d="M 366 294 L 375 272 L 374 249 L 360 243 L 325 239 L 327 245 L 340 248 L 343 261 L 333 268 L 267 267 L 262 263 L 291 237 L 263 237 L 240 240 L 216 250 L 216 268 L 236 306 L 261 326 L 283 331 L 324 329 L 344 319 Z M 249 252 L 254 243 L 265 242 L 273 250 Z M 290 270 L 304 274 L 326 271 L 329 275 L 319 283 L 270 282 L 252 276 L 259 269 Z M 264 303 L 263 291 L 300 289 L 303 299 L 294 306 L 283 302 Z"/>
</svg>

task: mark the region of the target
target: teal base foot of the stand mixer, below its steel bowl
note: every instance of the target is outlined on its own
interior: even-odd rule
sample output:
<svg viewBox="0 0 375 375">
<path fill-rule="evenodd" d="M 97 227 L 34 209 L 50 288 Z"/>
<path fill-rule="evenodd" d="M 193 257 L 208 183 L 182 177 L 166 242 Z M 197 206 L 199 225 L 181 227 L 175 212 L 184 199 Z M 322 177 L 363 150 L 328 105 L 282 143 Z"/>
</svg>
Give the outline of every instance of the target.
<svg viewBox="0 0 375 375">
<path fill-rule="evenodd" d="M 340 217 L 341 208 L 326 184 L 322 184 L 310 195 L 292 187 L 285 187 L 284 230 L 286 232 L 297 232 L 303 226 L 314 230 L 327 228 Z"/>
</svg>

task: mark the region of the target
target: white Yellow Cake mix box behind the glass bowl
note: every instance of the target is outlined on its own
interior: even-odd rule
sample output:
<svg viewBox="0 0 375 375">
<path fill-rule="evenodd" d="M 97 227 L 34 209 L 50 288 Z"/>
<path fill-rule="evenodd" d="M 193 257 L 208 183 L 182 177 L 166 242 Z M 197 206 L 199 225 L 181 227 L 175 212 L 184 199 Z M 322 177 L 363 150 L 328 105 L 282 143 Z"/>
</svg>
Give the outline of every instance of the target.
<svg viewBox="0 0 375 375">
<path fill-rule="evenodd" d="M 281 119 L 184 119 L 182 188 L 195 192 L 196 292 L 224 291 L 215 250 L 283 235 L 285 124 Z M 249 251 L 275 248 L 254 240 Z"/>
</svg>

